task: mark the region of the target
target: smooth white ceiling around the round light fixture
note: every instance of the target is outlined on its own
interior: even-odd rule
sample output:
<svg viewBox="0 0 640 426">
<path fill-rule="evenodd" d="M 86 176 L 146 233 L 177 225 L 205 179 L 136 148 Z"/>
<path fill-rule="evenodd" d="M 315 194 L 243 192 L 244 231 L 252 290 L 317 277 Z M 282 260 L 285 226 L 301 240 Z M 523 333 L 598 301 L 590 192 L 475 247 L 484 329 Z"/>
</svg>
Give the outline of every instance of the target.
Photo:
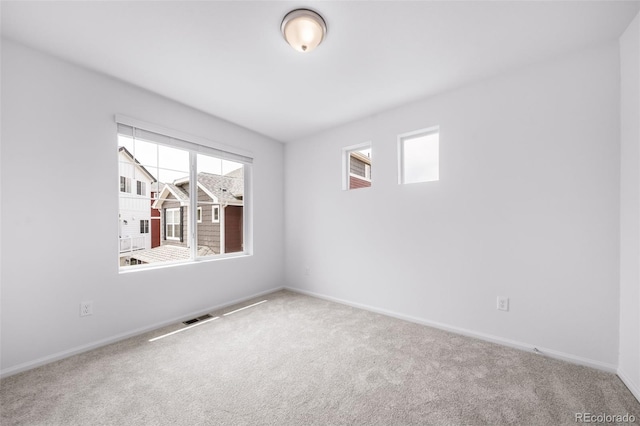
<svg viewBox="0 0 640 426">
<path fill-rule="evenodd" d="M 327 21 L 315 51 L 280 34 Z M 616 39 L 639 1 L 2 1 L 2 35 L 290 142 Z"/>
</svg>

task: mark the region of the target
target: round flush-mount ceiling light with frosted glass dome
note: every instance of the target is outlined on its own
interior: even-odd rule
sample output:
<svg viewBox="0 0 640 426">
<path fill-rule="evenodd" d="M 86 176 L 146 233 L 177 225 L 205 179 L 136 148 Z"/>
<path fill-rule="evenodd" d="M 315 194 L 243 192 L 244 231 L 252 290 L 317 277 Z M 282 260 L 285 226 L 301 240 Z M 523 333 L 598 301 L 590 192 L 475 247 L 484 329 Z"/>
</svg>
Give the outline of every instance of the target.
<svg viewBox="0 0 640 426">
<path fill-rule="evenodd" d="M 280 30 L 284 39 L 298 52 L 311 52 L 327 34 L 327 24 L 313 10 L 296 9 L 287 13 Z"/>
</svg>

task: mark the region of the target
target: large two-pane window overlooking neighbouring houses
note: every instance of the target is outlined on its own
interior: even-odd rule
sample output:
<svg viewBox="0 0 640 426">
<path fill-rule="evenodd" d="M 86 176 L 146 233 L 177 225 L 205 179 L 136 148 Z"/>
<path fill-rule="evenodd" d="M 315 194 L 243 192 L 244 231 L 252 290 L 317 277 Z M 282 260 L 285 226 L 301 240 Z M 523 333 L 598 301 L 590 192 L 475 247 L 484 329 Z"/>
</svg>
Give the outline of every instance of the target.
<svg viewBox="0 0 640 426">
<path fill-rule="evenodd" d="M 250 254 L 251 157 L 140 127 L 118 124 L 121 270 Z"/>
</svg>

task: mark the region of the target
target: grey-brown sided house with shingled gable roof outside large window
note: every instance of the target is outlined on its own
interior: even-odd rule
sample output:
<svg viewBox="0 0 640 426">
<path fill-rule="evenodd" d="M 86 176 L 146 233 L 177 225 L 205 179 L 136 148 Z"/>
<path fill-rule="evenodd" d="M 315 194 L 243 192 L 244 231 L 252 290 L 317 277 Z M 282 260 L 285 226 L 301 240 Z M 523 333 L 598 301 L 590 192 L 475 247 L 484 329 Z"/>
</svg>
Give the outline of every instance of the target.
<svg viewBox="0 0 640 426">
<path fill-rule="evenodd" d="M 198 173 L 196 213 L 198 255 L 209 256 L 243 250 L 243 169 L 225 175 Z M 159 242 L 146 250 L 130 254 L 130 264 L 188 259 L 189 178 L 158 185 L 151 205 L 151 239 Z"/>
</svg>

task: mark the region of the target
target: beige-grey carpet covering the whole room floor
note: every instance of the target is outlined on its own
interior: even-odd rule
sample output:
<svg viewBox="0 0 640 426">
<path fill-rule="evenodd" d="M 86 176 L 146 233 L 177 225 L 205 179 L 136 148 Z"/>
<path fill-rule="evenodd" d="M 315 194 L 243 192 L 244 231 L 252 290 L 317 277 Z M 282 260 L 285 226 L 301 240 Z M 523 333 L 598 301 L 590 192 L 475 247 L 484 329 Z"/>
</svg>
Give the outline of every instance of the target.
<svg viewBox="0 0 640 426">
<path fill-rule="evenodd" d="M 1 423 L 575 425 L 575 413 L 640 417 L 613 374 L 291 292 L 262 299 L 154 342 L 183 326 L 8 377 Z"/>
</svg>

